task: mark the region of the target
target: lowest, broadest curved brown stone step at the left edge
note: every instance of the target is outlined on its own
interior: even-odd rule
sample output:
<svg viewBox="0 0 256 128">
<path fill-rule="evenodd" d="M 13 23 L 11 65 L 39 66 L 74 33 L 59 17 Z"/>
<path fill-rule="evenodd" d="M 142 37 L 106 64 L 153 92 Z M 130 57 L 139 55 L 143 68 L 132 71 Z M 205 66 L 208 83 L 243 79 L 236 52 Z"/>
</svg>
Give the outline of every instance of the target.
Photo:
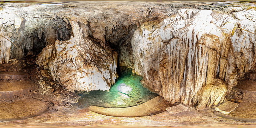
<svg viewBox="0 0 256 128">
<path fill-rule="evenodd" d="M 42 114 L 48 107 L 48 102 L 34 98 L 0 103 L 0 121 L 31 118 Z"/>
</svg>

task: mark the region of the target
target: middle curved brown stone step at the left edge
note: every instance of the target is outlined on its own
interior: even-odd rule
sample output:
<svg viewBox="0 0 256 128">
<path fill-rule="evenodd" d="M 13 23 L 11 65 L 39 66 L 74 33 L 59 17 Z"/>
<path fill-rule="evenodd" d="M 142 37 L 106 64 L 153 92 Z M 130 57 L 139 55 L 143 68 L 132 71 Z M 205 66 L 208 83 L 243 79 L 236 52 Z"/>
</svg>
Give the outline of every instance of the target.
<svg viewBox="0 0 256 128">
<path fill-rule="evenodd" d="M 37 87 L 37 84 L 29 79 L 0 81 L 0 101 L 20 99 Z"/>
</svg>

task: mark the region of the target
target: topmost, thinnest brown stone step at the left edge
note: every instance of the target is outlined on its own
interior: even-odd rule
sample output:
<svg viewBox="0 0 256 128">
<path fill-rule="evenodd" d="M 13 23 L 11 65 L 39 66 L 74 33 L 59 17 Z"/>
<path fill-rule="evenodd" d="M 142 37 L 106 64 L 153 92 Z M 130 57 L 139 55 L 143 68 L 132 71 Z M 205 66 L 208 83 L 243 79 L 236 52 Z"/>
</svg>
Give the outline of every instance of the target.
<svg viewBox="0 0 256 128">
<path fill-rule="evenodd" d="M 0 72 L 1 80 L 23 79 L 23 78 L 29 78 L 29 74 L 25 72 Z"/>
</svg>

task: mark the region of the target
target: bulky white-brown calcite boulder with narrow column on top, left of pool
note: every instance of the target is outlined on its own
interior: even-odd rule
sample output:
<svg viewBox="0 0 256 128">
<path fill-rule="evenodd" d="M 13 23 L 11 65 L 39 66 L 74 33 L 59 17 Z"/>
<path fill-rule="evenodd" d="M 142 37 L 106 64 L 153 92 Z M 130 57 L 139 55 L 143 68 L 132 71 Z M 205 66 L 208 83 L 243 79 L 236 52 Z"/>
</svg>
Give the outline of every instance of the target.
<svg viewBox="0 0 256 128">
<path fill-rule="evenodd" d="M 72 25 L 75 37 L 46 46 L 36 64 L 49 69 L 53 80 L 68 91 L 109 90 L 117 78 L 117 52 L 83 39 L 79 25 Z"/>
</svg>

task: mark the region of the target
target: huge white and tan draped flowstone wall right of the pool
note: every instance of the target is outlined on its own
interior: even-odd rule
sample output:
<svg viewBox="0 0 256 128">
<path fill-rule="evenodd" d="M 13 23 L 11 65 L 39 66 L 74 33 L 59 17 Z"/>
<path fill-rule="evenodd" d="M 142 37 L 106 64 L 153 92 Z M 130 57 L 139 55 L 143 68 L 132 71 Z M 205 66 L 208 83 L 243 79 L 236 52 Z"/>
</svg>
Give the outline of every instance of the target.
<svg viewBox="0 0 256 128">
<path fill-rule="evenodd" d="M 145 22 L 131 39 L 135 73 L 171 103 L 217 105 L 255 64 L 255 35 L 235 29 L 254 32 L 255 14 L 181 9 L 160 23 Z"/>
</svg>

